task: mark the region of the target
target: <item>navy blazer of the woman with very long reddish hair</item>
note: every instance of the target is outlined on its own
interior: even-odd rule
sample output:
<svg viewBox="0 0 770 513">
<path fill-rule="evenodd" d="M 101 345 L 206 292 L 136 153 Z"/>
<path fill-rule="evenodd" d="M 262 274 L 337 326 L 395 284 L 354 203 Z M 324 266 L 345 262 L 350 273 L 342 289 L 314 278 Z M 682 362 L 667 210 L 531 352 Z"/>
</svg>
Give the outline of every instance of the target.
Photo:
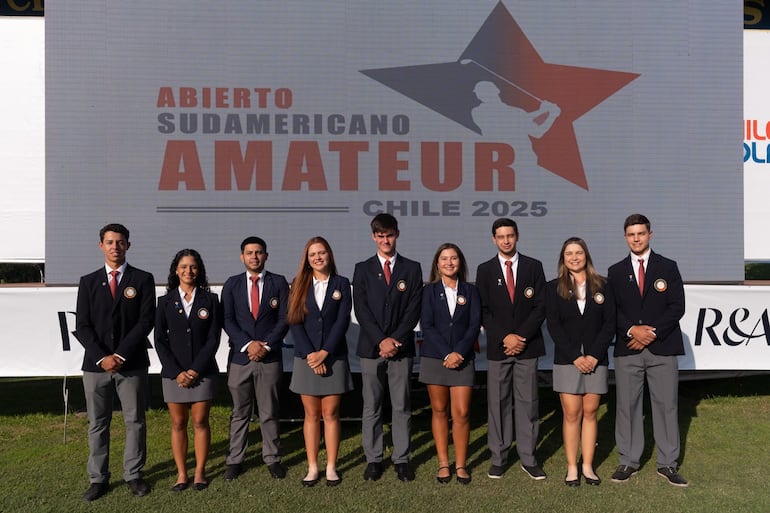
<svg viewBox="0 0 770 513">
<path fill-rule="evenodd" d="M 289 326 L 294 341 L 294 356 L 305 359 L 308 354 L 322 349 L 329 353 L 329 361 L 346 356 L 348 343 L 345 333 L 350 326 L 350 310 L 353 306 L 350 281 L 344 276 L 330 276 L 320 310 L 311 283 L 305 304 L 305 321 Z"/>
</svg>

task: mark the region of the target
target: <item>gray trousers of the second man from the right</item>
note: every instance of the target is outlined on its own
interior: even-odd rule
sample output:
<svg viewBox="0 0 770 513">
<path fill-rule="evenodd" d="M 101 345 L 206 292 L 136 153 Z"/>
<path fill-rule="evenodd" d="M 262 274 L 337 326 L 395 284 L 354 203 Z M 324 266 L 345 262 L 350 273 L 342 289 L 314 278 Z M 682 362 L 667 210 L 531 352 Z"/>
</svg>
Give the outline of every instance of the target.
<svg viewBox="0 0 770 513">
<path fill-rule="evenodd" d="M 540 432 L 537 358 L 490 360 L 487 372 L 487 442 L 492 464 L 505 467 L 516 426 L 516 452 L 522 465 L 537 465 Z M 511 408 L 514 408 L 511 411 Z M 514 415 L 515 413 L 515 415 Z"/>
</svg>

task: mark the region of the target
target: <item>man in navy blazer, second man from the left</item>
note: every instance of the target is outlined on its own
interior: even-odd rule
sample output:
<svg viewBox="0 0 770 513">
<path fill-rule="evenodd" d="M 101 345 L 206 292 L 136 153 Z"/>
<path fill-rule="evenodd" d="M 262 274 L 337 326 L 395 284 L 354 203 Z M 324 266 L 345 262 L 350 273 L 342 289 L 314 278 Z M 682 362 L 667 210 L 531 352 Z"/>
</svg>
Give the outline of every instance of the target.
<svg viewBox="0 0 770 513">
<path fill-rule="evenodd" d="M 227 386 L 233 398 L 226 481 L 242 471 L 255 399 L 262 459 L 274 479 L 286 477 L 279 453 L 278 395 L 283 377 L 281 347 L 289 330 L 289 285 L 283 276 L 265 270 L 267 257 L 267 243 L 247 237 L 241 243 L 240 257 L 246 272 L 231 276 L 222 287 L 224 328 L 230 343 Z"/>
</svg>

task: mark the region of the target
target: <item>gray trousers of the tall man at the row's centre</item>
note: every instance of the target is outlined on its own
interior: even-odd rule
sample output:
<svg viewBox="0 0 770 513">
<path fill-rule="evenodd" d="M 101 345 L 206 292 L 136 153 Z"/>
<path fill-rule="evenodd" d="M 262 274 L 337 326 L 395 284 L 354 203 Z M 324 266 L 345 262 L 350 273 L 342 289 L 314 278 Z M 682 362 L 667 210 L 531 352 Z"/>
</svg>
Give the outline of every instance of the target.
<svg viewBox="0 0 770 513">
<path fill-rule="evenodd" d="M 409 461 L 412 429 L 412 363 L 414 358 L 361 358 L 364 407 L 362 413 L 362 445 L 367 463 L 382 461 L 382 403 L 385 387 L 392 406 L 391 434 L 393 463 Z"/>
</svg>

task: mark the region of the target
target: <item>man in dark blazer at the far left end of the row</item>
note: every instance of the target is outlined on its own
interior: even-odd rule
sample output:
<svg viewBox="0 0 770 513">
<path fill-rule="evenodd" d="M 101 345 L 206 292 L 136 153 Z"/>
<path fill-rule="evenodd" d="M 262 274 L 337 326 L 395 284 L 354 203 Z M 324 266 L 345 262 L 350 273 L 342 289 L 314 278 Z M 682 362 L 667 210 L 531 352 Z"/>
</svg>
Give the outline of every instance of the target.
<svg viewBox="0 0 770 513">
<path fill-rule="evenodd" d="M 99 231 L 105 264 L 80 278 L 76 336 L 85 348 L 83 388 L 88 410 L 88 475 L 83 495 L 90 502 L 109 489 L 110 421 L 117 389 L 126 424 L 123 477 L 131 493 L 143 496 L 150 487 L 142 468 L 147 453 L 147 338 L 155 322 L 155 280 L 126 263 L 131 246 L 128 229 L 108 224 Z"/>
</svg>

